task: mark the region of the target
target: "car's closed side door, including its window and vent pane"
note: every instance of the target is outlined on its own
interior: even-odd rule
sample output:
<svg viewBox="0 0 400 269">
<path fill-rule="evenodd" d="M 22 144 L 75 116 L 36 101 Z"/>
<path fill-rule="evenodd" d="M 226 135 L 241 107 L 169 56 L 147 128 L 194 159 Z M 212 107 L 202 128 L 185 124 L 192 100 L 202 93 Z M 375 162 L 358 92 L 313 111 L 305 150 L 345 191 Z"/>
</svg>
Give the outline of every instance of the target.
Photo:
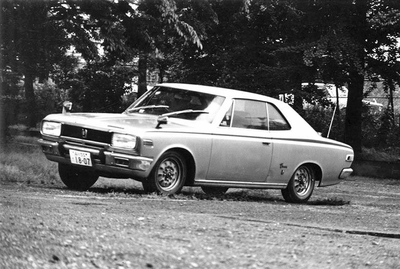
<svg viewBox="0 0 400 269">
<path fill-rule="evenodd" d="M 212 133 L 208 180 L 265 182 L 271 163 L 266 103 L 234 99 Z"/>
</svg>

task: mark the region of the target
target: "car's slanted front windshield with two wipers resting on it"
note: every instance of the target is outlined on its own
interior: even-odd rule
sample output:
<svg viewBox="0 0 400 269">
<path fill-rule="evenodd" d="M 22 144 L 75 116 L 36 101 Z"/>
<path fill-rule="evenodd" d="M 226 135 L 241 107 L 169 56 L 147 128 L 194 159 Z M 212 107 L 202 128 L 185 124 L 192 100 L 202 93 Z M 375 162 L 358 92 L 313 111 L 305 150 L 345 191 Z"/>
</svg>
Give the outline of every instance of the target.
<svg viewBox="0 0 400 269">
<path fill-rule="evenodd" d="M 132 104 L 126 113 L 162 115 L 182 110 L 195 110 L 169 117 L 211 123 L 225 97 L 169 87 L 154 87 Z M 205 113 L 204 113 L 205 112 Z"/>
</svg>

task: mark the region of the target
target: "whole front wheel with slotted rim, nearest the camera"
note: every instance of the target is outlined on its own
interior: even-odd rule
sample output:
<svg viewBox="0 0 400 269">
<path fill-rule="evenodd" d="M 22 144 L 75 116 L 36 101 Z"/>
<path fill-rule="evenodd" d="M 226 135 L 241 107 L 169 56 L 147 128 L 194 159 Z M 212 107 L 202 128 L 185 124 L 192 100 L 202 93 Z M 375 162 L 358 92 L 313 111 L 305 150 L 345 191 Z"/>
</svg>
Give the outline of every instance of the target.
<svg viewBox="0 0 400 269">
<path fill-rule="evenodd" d="M 167 151 L 159 157 L 151 170 L 143 189 L 155 190 L 159 194 L 179 193 L 186 180 L 186 162 L 175 151 Z"/>
</svg>

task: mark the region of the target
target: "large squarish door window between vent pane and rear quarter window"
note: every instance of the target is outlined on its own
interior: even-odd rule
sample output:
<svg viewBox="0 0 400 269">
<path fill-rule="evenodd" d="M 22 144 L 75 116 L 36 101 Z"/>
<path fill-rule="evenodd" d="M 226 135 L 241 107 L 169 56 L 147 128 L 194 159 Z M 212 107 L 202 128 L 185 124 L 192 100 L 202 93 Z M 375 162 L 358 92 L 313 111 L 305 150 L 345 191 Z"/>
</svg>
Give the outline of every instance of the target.
<svg viewBox="0 0 400 269">
<path fill-rule="evenodd" d="M 265 102 L 235 99 L 231 126 L 268 130 Z"/>
</svg>

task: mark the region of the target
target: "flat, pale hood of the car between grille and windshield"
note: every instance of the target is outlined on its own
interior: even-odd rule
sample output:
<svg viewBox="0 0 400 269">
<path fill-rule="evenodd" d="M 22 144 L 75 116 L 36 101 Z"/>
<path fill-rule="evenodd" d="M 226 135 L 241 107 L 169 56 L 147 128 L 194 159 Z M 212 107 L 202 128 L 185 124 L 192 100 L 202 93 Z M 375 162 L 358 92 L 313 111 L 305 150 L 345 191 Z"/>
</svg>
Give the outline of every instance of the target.
<svg viewBox="0 0 400 269">
<path fill-rule="evenodd" d="M 51 114 L 43 120 L 58 121 L 62 124 L 82 126 L 84 128 L 95 128 L 101 130 L 112 130 L 127 132 L 129 130 L 156 130 L 157 116 L 142 114 L 111 114 L 111 113 L 63 113 Z M 168 120 L 166 128 L 189 127 L 189 125 L 176 123 L 174 119 Z"/>
</svg>

